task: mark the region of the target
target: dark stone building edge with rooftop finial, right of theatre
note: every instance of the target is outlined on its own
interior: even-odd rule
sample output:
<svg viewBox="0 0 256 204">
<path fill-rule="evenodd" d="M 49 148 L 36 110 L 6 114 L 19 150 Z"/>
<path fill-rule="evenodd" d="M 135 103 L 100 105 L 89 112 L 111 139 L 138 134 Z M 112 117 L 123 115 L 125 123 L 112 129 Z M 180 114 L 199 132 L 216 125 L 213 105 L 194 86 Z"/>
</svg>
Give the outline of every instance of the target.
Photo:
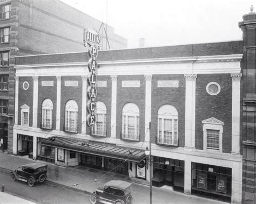
<svg viewBox="0 0 256 204">
<path fill-rule="evenodd" d="M 251 8 L 251 11 L 253 8 Z M 243 33 L 242 63 L 242 156 L 243 201 L 256 203 L 256 86 L 255 49 L 256 13 L 250 12 L 239 22 Z"/>
</svg>

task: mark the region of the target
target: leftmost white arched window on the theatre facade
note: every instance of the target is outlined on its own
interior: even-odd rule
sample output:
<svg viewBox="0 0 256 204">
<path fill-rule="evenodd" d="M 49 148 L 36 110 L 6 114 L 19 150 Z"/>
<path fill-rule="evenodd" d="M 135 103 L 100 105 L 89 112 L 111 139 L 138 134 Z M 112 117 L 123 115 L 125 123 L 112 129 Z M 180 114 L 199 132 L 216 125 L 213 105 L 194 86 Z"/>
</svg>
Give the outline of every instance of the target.
<svg viewBox="0 0 256 204">
<path fill-rule="evenodd" d="M 50 99 L 45 99 L 42 103 L 41 128 L 52 129 L 52 109 L 52 101 Z"/>
</svg>

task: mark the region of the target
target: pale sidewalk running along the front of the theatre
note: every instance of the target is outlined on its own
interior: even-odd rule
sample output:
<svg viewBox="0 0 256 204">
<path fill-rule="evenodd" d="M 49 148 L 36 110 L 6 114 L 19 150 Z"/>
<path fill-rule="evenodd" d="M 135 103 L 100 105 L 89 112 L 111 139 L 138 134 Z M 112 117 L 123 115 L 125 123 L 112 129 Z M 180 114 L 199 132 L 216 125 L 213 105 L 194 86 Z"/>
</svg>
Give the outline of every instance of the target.
<svg viewBox="0 0 256 204">
<path fill-rule="evenodd" d="M 109 180 L 130 181 L 129 177 L 122 174 L 108 173 L 83 166 L 62 167 L 46 163 L 45 161 L 35 161 L 26 156 L 20 157 L 0 152 L 0 168 L 12 170 L 29 163 L 48 164 L 48 178 L 46 181 L 64 185 L 65 187 L 73 188 L 86 194 L 92 193 L 98 187 L 103 187 Z M 149 186 L 133 183 L 131 194 L 133 196 L 133 203 L 149 203 Z M 152 201 L 153 203 L 224 203 L 158 187 L 152 187 Z"/>
</svg>

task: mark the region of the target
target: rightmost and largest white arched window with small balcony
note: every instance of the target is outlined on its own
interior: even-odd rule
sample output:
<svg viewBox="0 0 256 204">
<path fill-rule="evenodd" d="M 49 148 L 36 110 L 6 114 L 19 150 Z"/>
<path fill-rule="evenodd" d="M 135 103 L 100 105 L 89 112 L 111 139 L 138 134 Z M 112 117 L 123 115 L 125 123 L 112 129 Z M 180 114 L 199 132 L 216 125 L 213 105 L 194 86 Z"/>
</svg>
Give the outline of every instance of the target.
<svg viewBox="0 0 256 204">
<path fill-rule="evenodd" d="M 157 143 L 178 146 L 178 111 L 172 105 L 158 110 Z"/>
</svg>

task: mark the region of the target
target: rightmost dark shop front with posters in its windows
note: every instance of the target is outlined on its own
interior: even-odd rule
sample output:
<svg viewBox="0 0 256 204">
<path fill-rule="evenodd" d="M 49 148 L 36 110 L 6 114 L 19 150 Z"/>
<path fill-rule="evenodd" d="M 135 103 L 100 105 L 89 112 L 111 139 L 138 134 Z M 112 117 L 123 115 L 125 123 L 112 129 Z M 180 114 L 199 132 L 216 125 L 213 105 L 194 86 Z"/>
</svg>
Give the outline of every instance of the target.
<svg viewBox="0 0 256 204">
<path fill-rule="evenodd" d="M 192 163 L 192 193 L 231 200 L 232 168 Z"/>
</svg>

